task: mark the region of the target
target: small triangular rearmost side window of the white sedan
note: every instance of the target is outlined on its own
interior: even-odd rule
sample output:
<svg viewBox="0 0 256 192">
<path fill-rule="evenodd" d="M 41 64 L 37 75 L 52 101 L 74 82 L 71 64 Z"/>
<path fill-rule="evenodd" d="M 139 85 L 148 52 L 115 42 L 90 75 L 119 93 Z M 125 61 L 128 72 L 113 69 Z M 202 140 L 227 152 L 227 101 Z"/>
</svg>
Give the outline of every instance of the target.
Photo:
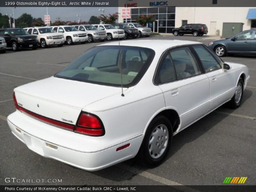
<svg viewBox="0 0 256 192">
<path fill-rule="evenodd" d="M 160 70 L 158 72 L 159 83 L 169 83 L 177 79 L 175 69 L 168 54 L 161 63 Z"/>
</svg>

